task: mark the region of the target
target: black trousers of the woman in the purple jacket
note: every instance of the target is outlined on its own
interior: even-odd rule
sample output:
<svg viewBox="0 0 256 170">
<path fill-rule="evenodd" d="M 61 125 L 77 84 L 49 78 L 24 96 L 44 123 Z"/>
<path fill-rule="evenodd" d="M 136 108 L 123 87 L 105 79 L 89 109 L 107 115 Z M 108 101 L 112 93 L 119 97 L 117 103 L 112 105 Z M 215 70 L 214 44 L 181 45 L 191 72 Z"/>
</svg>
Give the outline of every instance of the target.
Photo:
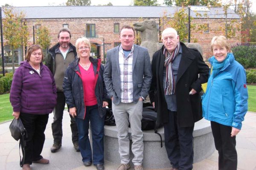
<svg viewBox="0 0 256 170">
<path fill-rule="evenodd" d="M 32 164 L 32 161 L 38 161 L 39 159 L 43 158 L 40 154 L 44 147 L 44 130 L 48 122 L 48 117 L 49 114 L 34 115 L 20 113 L 20 119 L 27 131 L 26 146 L 24 148 L 24 164 Z M 20 144 L 21 147 L 24 146 L 21 140 Z"/>
</svg>

